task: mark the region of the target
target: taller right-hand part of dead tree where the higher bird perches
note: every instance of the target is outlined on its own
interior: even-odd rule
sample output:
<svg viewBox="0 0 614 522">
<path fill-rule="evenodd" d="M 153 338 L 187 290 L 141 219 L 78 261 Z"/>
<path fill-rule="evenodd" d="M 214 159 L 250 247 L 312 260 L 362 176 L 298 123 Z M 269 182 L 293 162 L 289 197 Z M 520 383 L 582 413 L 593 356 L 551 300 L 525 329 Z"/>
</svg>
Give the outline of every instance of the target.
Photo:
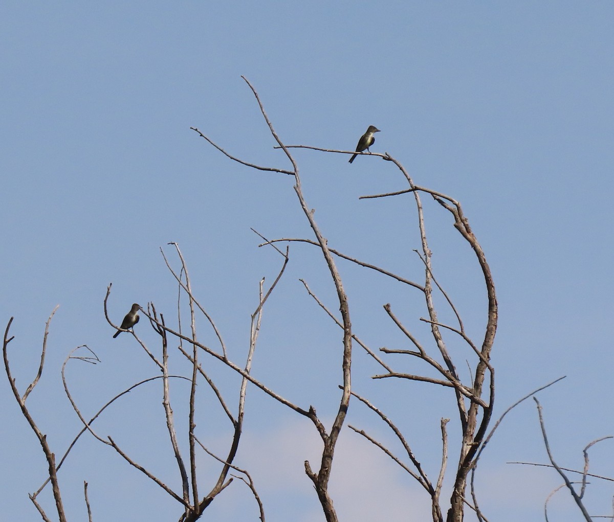
<svg viewBox="0 0 614 522">
<path fill-rule="evenodd" d="M 441 419 L 441 437 L 443 441 L 443 449 L 442 449 L 442 458 L 441 458 L 441 466 L 440 472 L 438 474 L 436 482 L 432 482 L 429 477 L 427 477 L 426 472 L 422 469 L 421 464 L 418 459 L 413 455 L 413 451 L 411 451 L 410 445 L 406 442 L 402 433 L 398 430 L 398 428 L 387 419 L 382 410 L 379 410 L 374 405 L 372 405 L 368 399 L 359 396 L 358 394 L 351 391 L 349 383 L 350 377 L 350 364 L 351 364 L 351 350 L 352 350 L 352 339 L 358 342 L 362 348 L 364 348 L 367 353 L 369 353 L 375 361 L 381 367 L 383 367 L 386 372 L 384 374 L 375 375 L 373 378 L 383 379 L 383 378 L 403 378 L 408 380 L 416 380 L 420 382 L 430 383 L 438 386 L 444 386 L 449 388 L 451 393 L 454 396 L 454 401 L 457 406 L 457 412 L 459 416 L 459 420 L 461 423 L 461 434 L 459 439 L 457 440 L 457 452 L 458 452 L 458 461 L 456 470 L 454 472 L 454 486 L 450 497 L 450 507 L 448 509 L 448 513 L 446 516 L 447 522 L 461 522 L 464 519 L 464 506 L 465 504 L 472 505 L 467 501 L 467 477 L 469 472 L 473 469 L 476 463 L 476 454 L 478 450 L 480 450 L 481 445 L 484 441 L 484 437 L 486 437 L 486 431 L 491 420 L 492 416 L 492 408 L 494 405 L 494 394 L 495 394 L 495 383 L 494 383 L 494 368 L 490 363 L 491 359 L 491 350 L 494 344 L 495 332 L 497 330 L 497 297 L 495 294 L 494 281 L 492 278 L 490 267 L 486 261 L 486 257 L 484 256 L 484 252 L 478 243 L 478 240 L 473 234 L 472 228 L 469 225 L 467 218 L 464 215 L 461 204 L 455 199 L 446 196 L 443 193 L 438 191 L 430 190 L 421 186 L 417 186 L 414 184 L 410 175 L 406 171 L 405 167 L 397 161 L 397 159 L 393 158 L 391 155 L 384 154 L 373 154 L 375 156 L 380 156 L 384 160 L 392 163 L 397 167 L 398 171 L 402 174 L 403 180 L 406 183 L 406 188 L 403 188 L 400 191 L 396 191 L 394 193 L 386 193 L 386 194 L 375 194 L 371 196 L 363 196 L 365 199 L 369 198 L 392 198 L 399 197 L 403 194 L 411 194 L 413 195 L 414 205 L 416 207 L 417 217 L 418 217 L 418 228 L 421 237 L 421 249 L 418 253 L 420 256 L 422 263 L 424 264 L 424 279 L 423 282 L 414 282 L 409 278 L 401 277 L 400 275 L 393 274 L 392 272 L 387 271 L 383 267 L 378 267 L 373 264 L 366 263 L 365 261 L 353 258 L 352 256 L 341 253 L 338 250 L 335 250 L 332 247 L 328 247 L 328 242 L 325 237 L 322 235 L 322 232 L 318 228 L 316 221 L 313 217 L 313 212 L 309 211 L 309 207 L 303 198 L 303 194 L 301 191 L 301 180 L 298 172 L 298 166 L 290 153 L 291 148 L 309 148 L 312 150 L 320 150 L 323 152 L 333 152 L 333 153 L 349 153 L 354 154 L 354 151 L 339 151 L 339 150 L 330 150 L 330 149 L 322 149 L 318 147 L 309 147 L 306 145 L 286 145 L 282 142 L 279 136 L 274 131 L 273 125 L 271 121 L 266 116 L 265 110 L 263 109 L 262 102 L 260 102 L 260 98 L 258 94 L 254 90 L 254 87 L 246 80 L 247 85 L 254 92 L 254 95 L 258 101 L 258 105 L 260 106 L 260 110 L 262 112 L 263 117 L 266 120 L 266 123 L 271 131 L 274 140 L 278 143 L 277 148 L 281 148 L 287 159 L 289 159 L 292 164 L 291 170 L 284 170 L 273 167 L 263 167 L 255 164 L 247 163 L 243 161 L 243 159 L 236 158 L 235 156 L 230 155 L 222 147 L 215 144 L 209 137 L 205 136 L 203 132 L 200 130 L 193 128 L 194 131 L 198 132 L 201 137 L 206 139 L 211 145 L 216 147 L 220 152 L 228 156 L 228 158 L 233 161 L 238 161 L 241 164 L 244 164 L 248 167 L 252 167 L 254 169 L 259 169 L 261 171 L 270 171 L 270 172 L 279 172 L 282 174 L 292 175 L 295 177 L 295 191 L 297 193 L 301 209 L 305 212 L 306 218 L 309 220 L 309 225 L 313 229 L 315 239 L 309 238 L 282 238 L 276 239 L 267 244 L 271 244 L 273 242 L 283 241 L 283 242 L 305 242 L 313 245 L 316 248 L 320 248 L 322 250 L 322 254 L 324 255 L 325 262 L 330 270 L 330 275 L 335 284 L 335 288 L 338 294 L 338 300 L 340 305 L 341 317 L 336 318 L 333 313 L 330 312 L 328 307 L 322 304 L 317 296 L 314 296 L 313 293 L 309 290 L 308 286 L 306 289 L 309 294 L 311 294 L 314 299 L 322 306 L 322 308 L 327 312 L 328 316 L 335 321 L 336 324 L 340 328 L 343 329 L 343 342 L 344 342 L 344 359 L 343 359 L 343 398 L 340 402 L 340 408 L 338 410 L 338 415 L 336 417 L 335 423 L 333 424 L 333 428 L 331 430 L 330 436 L 328 436 L 327 432 L 324 431 L 321 424 L 316 420 L 313 409 L 309 409 L 309 413 L 307 415 L 311 416 L 312 420 L 316 424 L 317 429 L 321 433 L 322 439 L 325 443 L 325 450 L 322 455 L 322 466 L 317 474 L 314 474 L 306 463 L 306 472 L 309 477 L 314 481 L 314 485 L 316 486 L 316 491 L 318 493 L 318 497 L 321 501 L 322 507 L 324 509 L 325 515 L 327 517 L 327 521 L 336 520 L 336 514 L 332 508 L 332 502 L 327 494 L 327 484 L 328 477 L 330 476 L 330 467 L 332 466 L 332 457 L 333 450 L 336 441 L 336 435 L 338 431 L 343 426 L 344 416 L 348 409 L 349 405 L 349 396 L 356 396 L 363 404 L 366 404 L 370 407 L 374 412 L 376 412 L 381 418 L 383 418 L 393 429 L 395 434 L 397 434 L 398 439 L 402 442 L 403 447 L 406 450 L 408 458 L 411 462 L 410 465 L 405 465 L 402 463 L 401 459 L 397 458 L 392 454 L 390 450 L 384 448 L 381 443 L 378 443 L 375 439 L 368 436 L 366 432 L 359 430 L 357 428 L 352 428 L 355 431 L 359 432 L 363 436 L 367 437 L 368 440 L 375 443 L 378 447 L 383 449 L 387 455 L 391 456 L 395 462 L 403 466 L 412 477 L 414 477 L 424 489 L 426 489 L 427 494 L 429 494 L 432 505 L 432 516 L 433 521 L 435 522 L 443 522 L 444 518 L 442 515 L 441 509 L 441 489 L 443 485 L 443 478 L 446 472 L 446 464 L 448 461 L 448 451 L 449 451 L 449 442 L 448 442 L 448 434 L 446 431 L 446 424 L 448 423 L 447 419 Z M 367 153 L 363 153 L 367 154 Z M 453 304 L 452 299 L 448 296 L 444 288 L 437 282 L 435 278 L 433 266 L 432 266 L 432 253 L 429 249 L 429 244 L 427 242 L 426 229 L 424 226 L 424 213 L 422 210 L 422 202 L 420 198 L 420 194 L 424 193 L 430 196 L 434 201 L 441 205 L 443 209 L 448 211 L 453 218 L 453 226 L 456 228 L 457 232 L 461 235 L 462 239 L 468 244 L 470 248 L 472 248 L 475 253 L 476 262 L 480 267 L 481 273 L 483 274 L 484 286 L 486 287 L 486 295 L 487 302 L 484 306 L 484 314 L 486 316 L 486 328 L 484 329 L 484 337 L 480 340 L 480 342 L 474 342 L 465 332 L 464 324 L 461 318 L 461 314 L 457 311 L 456 307 Z M 421 318 L 422 321 L 426 321 L 430 325 L 430 331 L 432 333 L 433 344 L 435 345 L 435 350 L 437 355 L 433 353 L 433 350 L 429 350 L 429 348 L 423 347 L 422 344 L 416 339 L 416 337 L 411 333 L 411 331 L 406 328 L 402 321 L 398 319 L 395 315 L 394 310 L 390 304 L 384 305 L 384 310 L 387 315 L 391 318 L 392 324 L 394 324 L 395 328 L 400 329 L 403 334 L 408 339 L 408 342 L 412 346 L 410 350 L 389 350 L 387 348 L 381 348 L 383 353 L 402 353 L 410 357 L 418 358 L 422 361 L 422 363 L 426 364 L 426 366 L 435 369 L 436 372 L 440 375 L 439 378 L 427 377 L 425 375 L 418 374 L 404 374 L 402 372 L 397 372 L 392 367 L 384 362 L 384 359 L 375 354 L 373 350 L 368 348 L 365 344 L 360 342 L 360 340 L 352 333 L 351 330 L 351 322 L 349 320 L 349 302 L 347 296 L 343 291 L 343 284 L 341 283 L 341 276 L 337 271 L 334 263 L 334 257 L 338 257 L 341 259 L 346 259 L 347 261 L 351 261 L 352 263 L 357 263 L 360 266 L 368 267 L 373 269 L 381 274 L 387 275 L 388 277 L 394 278 L 397 281 L 406 283 L 410 288 L 415 291 L 418 291 L 418 294 L 422 295 L 422 299 L 426 304 L 427 309 L 427 317 Z M 437 288 L 438 291 L 445 297 L 446 302 L 449 307 L 453 310 L 454 315 L 456 317 L 456 324 L 443 324 L 438 321 L 437 309 L 435 307 L 433 301 L 433 290 Z M 453 361 L 453 358 L 449 354 L 448 348 L 446 347 L 446 342 L 442 331 L 448 331 L 454 334 L 455 336 L 462 339 L 465 346 L 467 347 L 467 353 L 472 355 L 475 359 L 475 370 L 473 370 L 472 378 L 470 382 L 464 382 L 459 376 L 459 372 L 457 371 L 457 364 Z M 303 415 L 306 413 L 303 412 Z M 413 469 L 412 469 L 413 468 Z M 478 510 L 478 506 L 472 506 L 473 509 Z"/>
</svg>

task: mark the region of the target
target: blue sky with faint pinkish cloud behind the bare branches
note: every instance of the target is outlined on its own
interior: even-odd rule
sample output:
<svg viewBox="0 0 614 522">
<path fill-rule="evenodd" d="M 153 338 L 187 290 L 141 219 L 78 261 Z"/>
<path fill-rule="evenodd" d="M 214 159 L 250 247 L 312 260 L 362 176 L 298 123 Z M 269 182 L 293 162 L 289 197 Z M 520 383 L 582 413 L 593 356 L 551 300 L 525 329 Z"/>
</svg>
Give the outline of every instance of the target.
<svg viewBox="0 0 614 522">
<path fill-rule="evenodd" d="M 291 177 L 233 163 L 190 130 L 246 161 L 289 167 L 244 75 L 286 144 L 352 150 L 376 125 L 373 152 L 390 153 L 418 185 L 462 202 L 499 298 L 495 416 L 567 375 L 539 397 L 559 464 L 579 469 L 582 448 L 614 434 L 613 25 L 612 2 L 2 2 L 0 320 L 15 317 L 9 351 L 23 392 L 45 320 L 60 305 L 42 381 L 28 399 L 56 455 L 80 429 L 60 380 L 69 350 L 87 344 L 102 359 L 68 369 L 87 414 L 157 375 L 129 334 L 112 339 L 103 313 L 109 283 L 116 323 L 133 302 L 153 301 L 174 317 L 176 286 L 159 249 L 177 266 L 166 247 L 177 242 L 196 295 L 240 363 L 258 281 L 271 282 L 281 263 L 257 247 L 250 228 L 271 238 L 311 237 Z M 411 200 L 358 199 L 406 188 L 391 163 L 359 157 L 348 164 L 347 155 L 309 150 L 295 158 L 330 246 L 419 280 Z M 425 198 L 425 207 L 437 275 L 479 341 L 485 303 L 475 261 L 438 205 Z M 336 310 L 334 294 L 314 248 L 292 245 L 290 257 L 265 311 L 254 374 L 330 419 L 340 334 L 298 278 Z M 371 348 L 408 348 L 386 320 L 386 302 L 424 335 L 419 294 L 338 266 L 354 331 Z M 144 321 L 137 328 L 159 349 Z M 213 344 L 201 328 L 201 339 Z M 462 368 L 470 356 L 459 352 Z M 417 361 L 395 360 L 419 370 Z M 188 371 L 181 359 L 174 364 Z M 439 420 L 454 416 L 453 401 L 429 385 L 372 382 L 379 368 L 363 353 L 354 370 L 356 390 L 394 415 L 436 475 Z M 235 404 L 236 378 L 219 365 L 211 371 Z M 173 389 L 177 416 L 186 391 Z M 99 430 L 179 489 L 160 401 L 159 385 L 135 391 Z M 228 426 L 202 401 L 198 429 L 223 453 Z M 319 449 L 313 426 L 253 389 L 247 410 L 236 464 L 257 480 L 268 520 L 323 520 L 302 467 Z M 45 463 L 6 379 L 0 411 L 2 518 L 37 520 L 27 493 L 42 483 Z M 348 420 L 394 445 L 358 404 Z M 349 430 L 340 444 L 332 489 L 341 520 L 424 520 L 425 497 L 410 477 Z M 593 472 L 614 475 L 614 442 L 592 451 Z M 490 520 L 542 520 L 543 501 L 561 480 L 508 461 L 546 461 L 532 401 L 508 416 L 485 451 L 478 491 Z M 205 491 L 216 467 L 203 455 L 201 470 Z M 60 480 L 71 520 L 86 516 L 84 480 L 94 520 L 180 515 L 175 501 L 92 437 L 77 444 Z M 608 483 L 589 486 L 591 515 L 611 514 L 611 492 Z M 554 497 L 558 520 L 579 520 L 567 497 Z M 50 497 L 42 501 L 52 514 Z M 257 511 L 236 482 L 210 516 L 256 520 Z"/>
</svg>

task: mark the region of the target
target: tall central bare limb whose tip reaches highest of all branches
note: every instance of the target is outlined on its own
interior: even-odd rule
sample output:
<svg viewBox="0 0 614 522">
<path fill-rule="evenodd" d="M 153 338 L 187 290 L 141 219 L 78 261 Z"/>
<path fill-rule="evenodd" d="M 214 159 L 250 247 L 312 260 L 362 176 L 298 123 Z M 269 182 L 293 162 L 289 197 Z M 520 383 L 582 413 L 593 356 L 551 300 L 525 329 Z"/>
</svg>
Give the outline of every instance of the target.
<svg viewBox="0 0 614 522">
<path fill-rule="evenodd" d="M 314 483 L 314 486 L 316 486 L 317 495 L 321 502 L 322 509 L 324 510 L 327 522 L 336 522 L 337 516 L 333 507 L 333 501 L 328 494 L 328 480 L 330 480 L 330 472 L 332 470 L 332 461 L 333 455 L 335 453 L 336 442 L 338 440 L 341 427 L 343 426 L 345 416 L 348 411 L 351 390 L 352 323 L 349 315 L 348 296 L 346 296 L 345 290 L 343 288 L 343 283 L 341 282 L 341 275 L 339 274 L 335 265 L 335 259 L 333 259 L 332 253 L 328 249 L 327 239 L 325 239 L 325 237 L 322 235 L 322 232 L 320 231 L 316 220 L 314 220 L 313 210 L 309 209 L 305 198 L 303 197 L 303 191 L 301 189 L 301 180 L 298 175 L 298 166 L 287 147 L 281 142 L 277 133 L 275 132 L 275 129 L 273 128 L 273 125 L 271 124 L 271 121 L 269 120 L 264 110 L 264 107 L 262 106 L 262 102 L 260 101 L 258 93 L 254 89 L 252 84 L 249 83 L 246 77 L 243 76 L 242 78 L 252 90 L 252 93 L 254 93 L 256 101 L 258 102 L 258 106 L 260 107 L 260 112 L 262 113 L 263 118 L 265 118 L 266 124 L 271 131 L 271 135 L 274 137 L 276 142 L 278 142 L 279 146 L 284 150 L 284 153 L 286 153 L 286 156 L 289 159 L 290 163 L 292 163 L 293 175 L 295 177 L 296 182 L 294 185 L 294 191 L 297 194 L 298 201 L 300 202 L 301 208 L 305 213 L 305 217 L 308 219 L 309 225 L 311 225 L 311 229 L 316 235 L 316 239 L 320 245 L 320 248 L 322 249 L 322 254 L 324 255 L 328 270 L 330 271 L 330 276 L 335 283 L 335 288 L 339 299 L 341 317 L 343 318 L 343 394 L 341 396 L 341 401 L 339 404 L 339 409 L 335 416 L 335 420 L 333 421 L 332 428 L 330 429 L 330 435 L 326 434 L 324 425 L 317 418 L 316 412 L 313 407 L 309 409 L 309 413 L 311 414 L 310 418 L 316 426 L 317 430 L 320 432 L 322 440 L 324 441 L 324 451 L 322 451 L 321 466 L 317 475 L 311 469 L 309 461 L 305 461 L 305 472 L 308 477 L 311 478 L 312 482 Z"/>
</svg>

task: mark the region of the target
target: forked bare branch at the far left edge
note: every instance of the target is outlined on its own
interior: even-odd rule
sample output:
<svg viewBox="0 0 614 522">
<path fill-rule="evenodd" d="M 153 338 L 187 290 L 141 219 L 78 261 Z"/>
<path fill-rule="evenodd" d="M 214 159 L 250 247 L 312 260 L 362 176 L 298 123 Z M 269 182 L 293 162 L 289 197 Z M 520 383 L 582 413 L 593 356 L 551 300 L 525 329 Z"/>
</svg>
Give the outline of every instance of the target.
<svg viewBox="0 0 614 522">
<path fill-rule="evenodd" d="M 42 364 L 45 360 L 44 352 L 47 350 L 47 332 L 49 332 L 49 324 L 51 322 L 53 314 L 55 313 L 57 309 L 58 307 L 55 307 L 55 309 L 53 309 L 53 312 L 51 313 L 51 315 L 47 319 L 47 323 L 45 324 L 45 336 L 43 337 L 43 342 L 42 342 L 42 352 L 43 353 L 41 355 L 41 366 L 39 367 L 39 374 L 36 375 L 31 385 L 28 386 L 27 394 L 29 394 L 34 389 L 34 386 L 36 386 L 36 384 L 39 381 L 39 377 L 42 374 Z M 30 415 L 28 407 L 26 407 L 27 395 L 24 394 L 23 398 L 20 397 L 19 392 L 17 390 L 17 385 L 15 385 L 15 379 L 12 377 L 10 373 L 9 356 L 7 353 L 7 347 L 9 345 L 9 342 L 11 342 L 14 339 L 14 337 L 9 338 L 9 330 L 10 330 L 10 325 L 12 322 L 13 322 L 13 318 L 11 317 L 9 319 L 9 322 L 6 325 L 6 330 L 4 331 L 4 339 L 2 342 L 2 356 L 4 357 L 4 369 L 6 370 L 6 375 L 7 375 L 7 378 L 9 379 L 10 388 L 13 391 L 15 400 L 17 401 L 17 403 L 19 404 L 21 408 L 21 413 L 28 421 L 30 428 L 32 428 L 32 431 L 34 431 L 34 434 L 36 434 L 36 437 L 39 439 L 39 443 L 41 443 L 43 453 L 45 454 L 45 458 L 47 459 L 47 465 L 49 467 L 49 478 L 51 480 L 52 489 L 53 489 L 53 499 L 55 500 L 55 507 L 58 512 L 58 520 L 60 520 L 60 522 L 66 522 L 66 514 L 64 513 L 64 505 L 62 503 L 62 497 L 60 494 L 60 483 L 58 483 L 57 467 L 55 466 L 55 455 L 52 453 L 51 449 L 49 448 L 49 444 L 47 444 L 47 436 L 44 435 L 41 432 L 41 430 L 38 428 L 38 426 L 34 422 L 34 418 Z M 43 517 L 43 519 L 49 520 L 47 518 L 47 515 L 45 515 L 45 512 L 42 509 L 42 507 L 36 502 L 36 496 L 29 495 L 29 498 L 33 502 L 33 504 L 36 506 L 36 509 L 39 510 L 39 513 L 41 513 L 41 516 Z"/>
</svg>

